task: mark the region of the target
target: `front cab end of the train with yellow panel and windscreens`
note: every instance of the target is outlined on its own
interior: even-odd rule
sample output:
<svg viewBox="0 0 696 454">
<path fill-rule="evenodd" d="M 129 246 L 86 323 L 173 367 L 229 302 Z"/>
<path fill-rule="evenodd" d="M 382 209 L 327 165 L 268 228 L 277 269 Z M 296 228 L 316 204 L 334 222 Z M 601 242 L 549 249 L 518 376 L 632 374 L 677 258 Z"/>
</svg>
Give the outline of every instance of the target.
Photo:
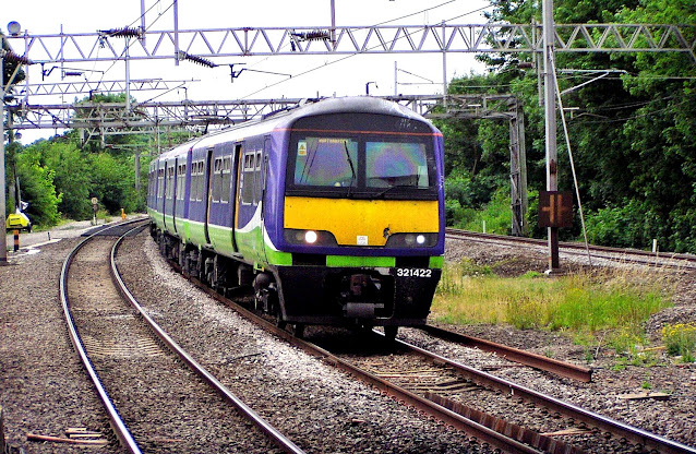
<svg viewBox="0 0 696 454">
<path fill-rule="evenodd" d="M 424 324 L 444 252 L 442 135 L 401 117 L 302 118 L 286 167 L 285 320 Z"/>
</svg>

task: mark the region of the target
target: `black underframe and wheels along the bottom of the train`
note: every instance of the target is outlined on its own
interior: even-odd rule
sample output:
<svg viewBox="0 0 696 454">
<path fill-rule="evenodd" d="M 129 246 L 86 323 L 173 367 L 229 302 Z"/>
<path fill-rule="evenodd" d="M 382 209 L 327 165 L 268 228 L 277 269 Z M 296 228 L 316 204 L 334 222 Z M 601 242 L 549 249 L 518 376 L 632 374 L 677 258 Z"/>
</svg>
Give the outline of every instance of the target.
<svg viewBox="0 0 696 454">
<path fill-rule="evenodd" d="M 290 324 L 301 336 L 305 325 L 384 326 L 393 338 L 398 326 L 425 324 L 441 270 L 406 272 L 396 267 L 274 266 L 251 264 L 185 244 L 153 228 L 160 253 L 187 275 L 225 295 L 253 295 L 254 309 L 278 326 Z M 253 291 L 253 294 L 252 294 Z"/>
</svg>

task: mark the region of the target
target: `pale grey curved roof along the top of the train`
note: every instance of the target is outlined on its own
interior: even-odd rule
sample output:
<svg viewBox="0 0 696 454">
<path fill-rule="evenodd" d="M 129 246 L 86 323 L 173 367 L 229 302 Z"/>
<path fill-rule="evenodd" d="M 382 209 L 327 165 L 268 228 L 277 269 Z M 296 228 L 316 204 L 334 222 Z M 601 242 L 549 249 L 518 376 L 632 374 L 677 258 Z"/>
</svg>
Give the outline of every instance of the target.
<svg viewBox="0 0 696 454">
<path fill-rule="evenodd" d="M 328 113 L 381 113 L 403 117 L 411 120 L 430 121 L 413 110 L 397 103 L 371 96 L 350 96 L 326 98 L 317 103 L 305 104 L 291 110 L 284 110 L 263 119 L 244 121 L 242 123 L 209 132 L 201 138 L 192 139 L 163 153 L 161 158 L 168 159 L 187 153 L 191 147 L 208 147 L 220 142 L 233 142 L 243 138 L 261 135 L 276 129 L 290 128 L 291 124 L 304 117 Z M 431 128 L 432 127 L 431 124 Z"/>
</svg>

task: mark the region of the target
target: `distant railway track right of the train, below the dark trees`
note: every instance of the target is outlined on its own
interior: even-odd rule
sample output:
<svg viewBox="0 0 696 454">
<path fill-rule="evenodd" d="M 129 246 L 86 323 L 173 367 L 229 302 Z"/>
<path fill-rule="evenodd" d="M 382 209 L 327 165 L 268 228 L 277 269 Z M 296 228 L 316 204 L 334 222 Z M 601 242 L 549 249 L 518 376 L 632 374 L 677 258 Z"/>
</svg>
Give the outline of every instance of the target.
<svg viewBox="0 0 696 454">
<path fill-rule="evenodd" d="M 509 237 L 505 235 L 481 234 L 477 231 L 446 229 L 447 238 L 493 243 L 502 246 L 514 246 L 529 249 L 543 249 L 548 247 L 547 240 L 536 238 Z M 587 258 L 585 244 L 578 242 L 562 241 L 559 243 L 560 252 L 563 254 Z M 592 260 L 607 260 L 619 263 L 629 263 L 645 266 L 657 266 L 676 270 L 696 270 L 696 255 L 679 254 L 674 252 L 648 252 L 638 249 L 621 249 L 604 246 L 589 246 Z"/>
</svg>

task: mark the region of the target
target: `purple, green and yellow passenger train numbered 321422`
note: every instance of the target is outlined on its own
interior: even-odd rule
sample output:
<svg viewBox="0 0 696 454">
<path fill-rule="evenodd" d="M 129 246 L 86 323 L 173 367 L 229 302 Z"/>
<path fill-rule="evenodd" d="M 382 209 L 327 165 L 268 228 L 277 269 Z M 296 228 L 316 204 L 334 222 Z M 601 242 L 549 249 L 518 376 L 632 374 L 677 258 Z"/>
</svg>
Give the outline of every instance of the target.
<svg viewBox="0 0 696 454">
<path fill-rule="evenodd" d="M 444 142 L 386 99 L 335 97 L 220 129 L 149 165 L 160 252 L 301 336 L 425 323 L 444 262 Z M 251 298 L 249 298 L 251 301 Z"/>
</svg>

